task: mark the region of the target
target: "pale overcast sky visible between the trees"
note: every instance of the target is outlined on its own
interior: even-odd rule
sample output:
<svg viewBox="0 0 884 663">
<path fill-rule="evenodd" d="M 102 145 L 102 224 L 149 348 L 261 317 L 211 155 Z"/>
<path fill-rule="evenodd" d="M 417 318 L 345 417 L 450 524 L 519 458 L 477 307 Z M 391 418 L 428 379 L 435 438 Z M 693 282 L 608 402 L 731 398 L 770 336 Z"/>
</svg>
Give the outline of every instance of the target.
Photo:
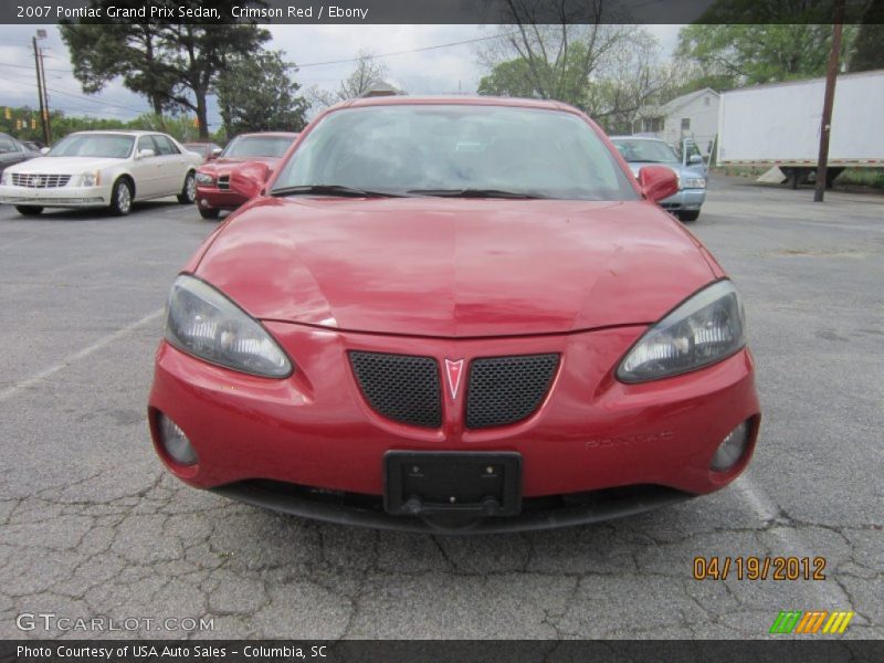
<svg viewBox="0 0 884 663">
<path fill-rule="evenodd" d="M 38 107 L 36 76 L 31 36 L 45 29 L 41 41 L 45 52 L 50 106 L 71 115 L 133 119 L 149 110 L 144 97 L 115 82 L 97 95 L 84 95 L 71 74 L 67 49 L 54 25 L 0 25 L 0 105 Z M 645 25 L 660 41 L 664 54 L 675 45 L 680 25 Z M 282 49 L 301 69 L 296 81 L 305 88 L 335 88 L 352 70 L 352 63 L 323 64 L 355 57 L 359 51 L 376 55 L 443 46 L 495 34 L 496 25 L 271 25 L 270 48 Z M 381 57 L 388 80 L 410 94 L 475 92 L 485 73 L 476 62 L 482 42 L 417 51 Z M 211 129 L 220 124 L 210 103 Z"/>
</svg>

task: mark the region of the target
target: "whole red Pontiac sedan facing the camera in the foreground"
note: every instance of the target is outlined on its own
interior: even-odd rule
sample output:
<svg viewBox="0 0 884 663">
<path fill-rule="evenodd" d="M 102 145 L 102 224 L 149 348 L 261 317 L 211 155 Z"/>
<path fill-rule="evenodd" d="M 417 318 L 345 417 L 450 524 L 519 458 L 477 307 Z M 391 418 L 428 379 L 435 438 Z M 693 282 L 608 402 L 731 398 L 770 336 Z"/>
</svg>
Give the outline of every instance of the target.
<svg viewBox="0 0 884 663">
<path fill-rule="evenodd" d="M 248 182 L 236 186 L 248 188 Z M 377 97 L 316 118 L 172 285 L 149 421 L 192 486 L 434 532 L 716 491 L 759 427 L 737 291 L 554 102 Z"/>
</svg>

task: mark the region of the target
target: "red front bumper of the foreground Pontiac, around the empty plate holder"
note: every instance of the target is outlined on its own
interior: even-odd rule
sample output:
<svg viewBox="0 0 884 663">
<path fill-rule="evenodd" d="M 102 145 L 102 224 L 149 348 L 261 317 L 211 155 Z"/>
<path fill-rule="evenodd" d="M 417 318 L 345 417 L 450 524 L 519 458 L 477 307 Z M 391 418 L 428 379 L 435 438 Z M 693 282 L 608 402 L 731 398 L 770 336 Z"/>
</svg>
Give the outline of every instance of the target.
<svg viewBox="0 0 884 663">
<path fill-rule="evenodd" d="M 157 351 L 149 420 L 158 454 L 181 480 L 288 513 L 380 526 L 378 517 L 391 517 L 370 508 L 364 509 L 365 518 L 346 509 L 337 517 L 327 505 L 305 507 L 303 498 L 317 490 L 378 498 L 385 487 L 383 454 L 391 450 L 517 452 L 526 501 L 577 497 L 607 488 L 651 486 L 656 491 L 603 509 L 592 496 L 588 511 L 578 501 L 558 516 L 524 514 L 529 527 L 591 522 L 723 487 L 745 469 L 758 431 L 754 364 L 747 349 L 665 380 L 643 385 L 615 380 L 620 358 L 644 326 L 455 340 L 264 325 L 296 366 L 290 378 L 234 372 L 164 341 Z M 371 410 L 347 360 L 349 350 L 432 356 L 440 365 L 452 357 L 464 358 L 469 365 L 474 357 L 559 352 L 561 362 L 546 400 L 527 420 L 466 430 L 462 403 L 446 396 L 443 424 L 436 430 L 400 424 Z M 170 417 L 188 435 L 198 454 L 196 465 L 178 465 L 165 453 L 157 412 Z M 709 462 L 718 444 L 747 419 L 753 425 L 746 454 L 729 471 L 712 472 Z M 270 491 L 266 482 L 285 484 L 291 491 L 287 495 Z M 582 515 L 578 514 L 581 508 Z M 400 518 L 396 517 L 397 528 L 413 528 L 408 524 L 413 519 Z M 525 527 L 518 518 L 490 522 L 501 530 Z"/>
</svg>

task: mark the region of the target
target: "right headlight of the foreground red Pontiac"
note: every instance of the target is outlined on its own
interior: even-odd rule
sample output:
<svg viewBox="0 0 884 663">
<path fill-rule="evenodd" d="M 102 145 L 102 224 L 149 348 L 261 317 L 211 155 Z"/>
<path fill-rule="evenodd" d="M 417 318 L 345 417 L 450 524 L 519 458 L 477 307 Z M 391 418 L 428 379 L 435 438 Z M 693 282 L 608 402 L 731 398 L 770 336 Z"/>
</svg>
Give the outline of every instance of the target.
<svg viewBox="0 0 884 663">
<path fill-rule="evenodd" d="M 644 382 L 729 357 L 746 345 L 743 304 L 729 281 L 703 288 L 651 327 L 627 354 L 617 377 Z"/>
</svg>

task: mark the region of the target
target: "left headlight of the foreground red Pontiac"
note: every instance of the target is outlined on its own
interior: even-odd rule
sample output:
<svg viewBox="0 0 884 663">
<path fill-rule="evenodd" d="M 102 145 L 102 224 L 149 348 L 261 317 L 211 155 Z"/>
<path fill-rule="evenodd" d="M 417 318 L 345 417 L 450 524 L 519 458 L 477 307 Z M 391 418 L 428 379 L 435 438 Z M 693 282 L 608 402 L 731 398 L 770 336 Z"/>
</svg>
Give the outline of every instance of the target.
<svg viewBox="0 0 884 663">
<path fill-rule="evenodd" d="M 261 324 L 224 295 L 181 275 L 169 294 L 166 339 L 179 350 L 233 370 L 284 378 L 292 362 Z"/>
</svg>

